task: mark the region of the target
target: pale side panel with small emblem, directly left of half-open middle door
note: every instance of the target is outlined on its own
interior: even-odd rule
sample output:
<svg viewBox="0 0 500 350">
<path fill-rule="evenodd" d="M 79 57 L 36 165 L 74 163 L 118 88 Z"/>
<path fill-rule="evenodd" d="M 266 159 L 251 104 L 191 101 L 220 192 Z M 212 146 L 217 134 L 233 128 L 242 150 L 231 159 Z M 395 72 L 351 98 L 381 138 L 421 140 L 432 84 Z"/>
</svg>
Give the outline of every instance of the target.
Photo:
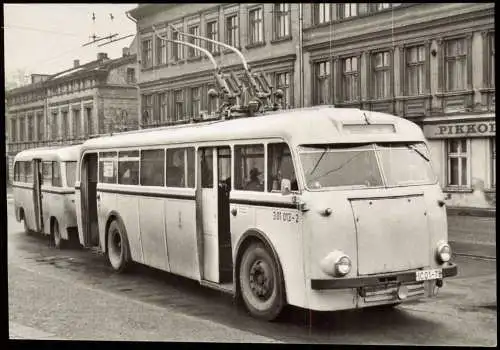
<svg viewBox="0 0 500 350">
<path fill-rule="evenodd" d="M 167 199 L 165 225 L 170 272 L 198 280 L 196 202 Z"/>
</svg>

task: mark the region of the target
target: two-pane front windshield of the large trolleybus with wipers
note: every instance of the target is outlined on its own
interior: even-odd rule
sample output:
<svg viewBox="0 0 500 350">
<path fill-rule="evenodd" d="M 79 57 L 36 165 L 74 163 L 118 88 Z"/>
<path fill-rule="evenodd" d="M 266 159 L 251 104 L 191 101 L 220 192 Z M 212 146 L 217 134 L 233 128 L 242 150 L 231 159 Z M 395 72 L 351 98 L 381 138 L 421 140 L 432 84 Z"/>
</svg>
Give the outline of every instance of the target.
<svg viewBox="0 0 500 350">
<path fill-rule="evenodd" d="M 435 182 L 430 156 L 423 143 L 340 147 L 314 145 L 300 147 L 299 153 L 306 187 L 312 190 L 338 186 L 394 187 Z"/>
</svg>

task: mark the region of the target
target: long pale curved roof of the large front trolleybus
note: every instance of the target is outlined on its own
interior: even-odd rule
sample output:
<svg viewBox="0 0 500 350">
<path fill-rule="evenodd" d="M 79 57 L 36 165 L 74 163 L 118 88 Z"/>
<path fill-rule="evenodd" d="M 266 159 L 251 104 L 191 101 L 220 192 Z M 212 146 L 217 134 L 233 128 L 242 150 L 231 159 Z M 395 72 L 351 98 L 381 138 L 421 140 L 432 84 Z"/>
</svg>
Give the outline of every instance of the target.
<svg viewBox="0 0 500 350">
<path fill-rule="evenodd" d="M 416 124 L 400 117 L 353 108 L 317 106 L 104 136 L 84 142 L 82 151 L 262 138 L 281 138 L 292 146 L 425 141 L 422 130 Z"/>
</svg>

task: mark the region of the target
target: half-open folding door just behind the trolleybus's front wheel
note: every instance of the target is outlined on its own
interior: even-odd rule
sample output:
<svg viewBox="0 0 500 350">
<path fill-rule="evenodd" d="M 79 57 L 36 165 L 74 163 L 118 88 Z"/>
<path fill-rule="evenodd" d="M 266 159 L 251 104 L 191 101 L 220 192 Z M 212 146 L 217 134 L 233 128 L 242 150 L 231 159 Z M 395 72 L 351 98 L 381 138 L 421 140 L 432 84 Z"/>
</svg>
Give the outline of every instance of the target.
<svg viewBox="0 0 500 350">
<path fill-rule="evenodd" d="M 232 278 L 231 235 L 229 232 L 229 188 L 231 151 L 229 147 L 205 147 L 200 160 L 201 244 L 198 245 L 202 280 L 215 283 Z M 228 172 L 229 171 L 229 172 Z M 200 183 L 200 182 L 199 182 Z M 227 207 L 227 208 L 226 208 Z M 229 271 L 229 272 L 228 272 Z"/>
</svg>

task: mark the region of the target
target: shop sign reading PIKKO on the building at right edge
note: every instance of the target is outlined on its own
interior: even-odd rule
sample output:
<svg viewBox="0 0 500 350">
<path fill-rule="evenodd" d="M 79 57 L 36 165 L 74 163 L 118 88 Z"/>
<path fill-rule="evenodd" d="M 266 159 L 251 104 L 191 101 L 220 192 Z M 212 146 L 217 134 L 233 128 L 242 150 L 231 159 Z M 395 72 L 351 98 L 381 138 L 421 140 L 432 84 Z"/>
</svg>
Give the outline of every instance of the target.
<svg viewBox="0 0 500 350">
<path fill-rule="evenodd" d="M 428 139 L 495 136 L 495 122 L 424 125 L 424 135 Z"/>
</svg>

